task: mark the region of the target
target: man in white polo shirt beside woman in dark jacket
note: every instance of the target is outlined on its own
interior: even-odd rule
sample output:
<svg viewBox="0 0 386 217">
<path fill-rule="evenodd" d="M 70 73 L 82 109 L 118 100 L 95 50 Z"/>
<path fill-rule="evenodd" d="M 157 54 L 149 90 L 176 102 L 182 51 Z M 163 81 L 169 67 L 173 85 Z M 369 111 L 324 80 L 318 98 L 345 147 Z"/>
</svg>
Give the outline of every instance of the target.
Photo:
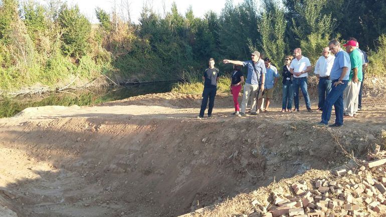
<svg viewBox="0 0 386 217">
<path fill-rule="evenodd" d="M 290 72 L 294 75 L 292 79 L 292 87 L 294 90 L 294 101 L 295 109 L 294 111 L 299 111 L 299 87 L 302 90 L 304 101 L 306 103 L 307 111 L 312 112 L 311 110 L 311 101 L 307 92 L 307 76 L 308 72 L 312 69 L 310 60 L 307 57 L 302 56 L 302 50 L 296 48 L 294 50 L 295 59 L 292 60 L 290 65 Z"/>
</svg>

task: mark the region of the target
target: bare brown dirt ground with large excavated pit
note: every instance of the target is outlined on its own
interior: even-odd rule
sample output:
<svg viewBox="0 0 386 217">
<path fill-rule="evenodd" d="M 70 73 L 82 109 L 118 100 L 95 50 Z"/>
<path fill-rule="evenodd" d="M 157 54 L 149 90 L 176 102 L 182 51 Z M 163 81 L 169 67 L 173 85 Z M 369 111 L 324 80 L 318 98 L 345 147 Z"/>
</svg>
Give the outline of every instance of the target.
<svg viewBox="0 0 386 217">
<path fill-rule="evenodd" d="M 236 118 L 231 96 L 217 97 L 210 119 L 196 118 L 199 96 L 172 93 L 29 108 L 0 119 L 0 215 L 183 214 L 340 165 L 347 159 L 335 138 L 364 153 L 386 128 L 384 99 L 369 89 L 364 110 L 339 129 L 314 127 L 320 112 L 281 113 L 277 102 Z"/>
</svg>

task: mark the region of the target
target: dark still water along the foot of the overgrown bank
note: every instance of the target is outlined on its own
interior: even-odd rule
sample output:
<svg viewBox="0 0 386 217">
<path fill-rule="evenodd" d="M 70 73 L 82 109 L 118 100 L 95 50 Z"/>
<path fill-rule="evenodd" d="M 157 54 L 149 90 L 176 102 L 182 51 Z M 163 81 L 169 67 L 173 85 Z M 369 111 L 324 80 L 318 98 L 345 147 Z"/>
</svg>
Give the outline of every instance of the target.
<svg viewBox="0 0 386 217">
<path fill-rule="evenodd" d="M 28 107 L 46 105 L 95 105 L 103 102 L 125 99 L 150 93 L 169 92 L 175 82 L 158 82 L 149 84 L 104 87 L 75 91 L 72 93 L 51 93 L 41 96 L 16 97 L 0 100 L 0 118 L 11 117 Z"/>
</svg>

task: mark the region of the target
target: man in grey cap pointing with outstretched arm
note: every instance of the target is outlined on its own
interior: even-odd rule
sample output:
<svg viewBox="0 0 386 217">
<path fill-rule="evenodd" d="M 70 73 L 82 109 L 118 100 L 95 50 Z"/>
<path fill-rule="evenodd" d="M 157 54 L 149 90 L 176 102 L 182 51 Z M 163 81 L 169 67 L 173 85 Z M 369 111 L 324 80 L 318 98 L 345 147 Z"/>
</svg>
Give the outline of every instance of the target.
<svg viewBox="0 0 386 217">
<path fill-rule="evenodd" d="M 257 110 L 256 108 L 260 108 L 261 106 L 261 102 L 259 102 L 260 104 L 256 107 L 256 101 L 259 95 L 259 91 L 264 91 L 264 81 L 266 74 L 264 61 L 260 58 L 260 52 L 254 51 L 251 53 L 251 60 L 248 61 L 223 60 L 223 63 L 232 63 L 235 65 L 248 67 L 248 75 L 244 85 L 243 101 L 241 102 L 240 106 L 240 115 L 245 116 L 245 110 L 250 98 L 251 115 L 256 115 L 260 110 Z"/>
</svg>

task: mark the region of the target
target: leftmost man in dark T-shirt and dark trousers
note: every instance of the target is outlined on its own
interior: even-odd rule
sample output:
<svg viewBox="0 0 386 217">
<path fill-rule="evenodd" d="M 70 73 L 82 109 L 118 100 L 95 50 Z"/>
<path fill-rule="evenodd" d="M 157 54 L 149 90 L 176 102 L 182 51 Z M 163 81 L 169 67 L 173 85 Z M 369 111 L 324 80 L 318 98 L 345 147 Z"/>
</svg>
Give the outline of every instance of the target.
<svg viewBox="0 0 386 217">
<path fill-rule="evenodd" d="M 204 71 L 203 80 L 204 80 L 204 91 L 203 91 L 203 101 L 201 102 L 201 110 L 199 118 L 204 117 L 205 109 L 207 109 L 208 98 L 209 98 L 209 108 L 208 108 L 208 117 L 212 117 L 213 106 L 215 105 L 215 96 L 217 93 L 217 82 L 220 78 L 220 71 L 215 67 L 215 59 L 209 59 L 209 68 Z"/>
</svg>

